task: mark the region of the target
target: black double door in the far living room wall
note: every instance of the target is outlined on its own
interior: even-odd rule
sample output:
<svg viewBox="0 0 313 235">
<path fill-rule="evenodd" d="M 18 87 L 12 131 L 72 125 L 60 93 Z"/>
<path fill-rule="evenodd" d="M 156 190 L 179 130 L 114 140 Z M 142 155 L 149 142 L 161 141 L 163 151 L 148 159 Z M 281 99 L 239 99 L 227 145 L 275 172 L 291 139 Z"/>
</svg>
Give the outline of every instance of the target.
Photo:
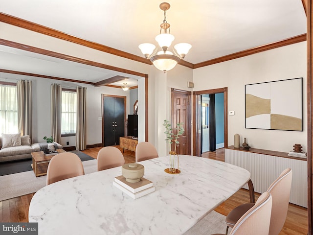
<svg viewBox="0 0 313 235">
<path fill-rule="evenodd" d="M 125 136 L 125 98 L 103 96 L 104 146 L 119 145 Z"/>
</svg>

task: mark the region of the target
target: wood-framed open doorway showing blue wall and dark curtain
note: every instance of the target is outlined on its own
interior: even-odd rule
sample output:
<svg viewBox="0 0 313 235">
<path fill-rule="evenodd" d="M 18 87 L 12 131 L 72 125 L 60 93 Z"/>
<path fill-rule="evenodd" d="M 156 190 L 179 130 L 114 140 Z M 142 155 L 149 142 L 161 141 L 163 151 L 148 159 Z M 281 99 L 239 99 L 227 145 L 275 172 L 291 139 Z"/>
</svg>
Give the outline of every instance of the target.
<svg viewBox="0 0 313 235">
<path fill-rule="evenodd" d="M 194 155 L 228 146 L 227 87 L 194 92 Z"/>
</svg>

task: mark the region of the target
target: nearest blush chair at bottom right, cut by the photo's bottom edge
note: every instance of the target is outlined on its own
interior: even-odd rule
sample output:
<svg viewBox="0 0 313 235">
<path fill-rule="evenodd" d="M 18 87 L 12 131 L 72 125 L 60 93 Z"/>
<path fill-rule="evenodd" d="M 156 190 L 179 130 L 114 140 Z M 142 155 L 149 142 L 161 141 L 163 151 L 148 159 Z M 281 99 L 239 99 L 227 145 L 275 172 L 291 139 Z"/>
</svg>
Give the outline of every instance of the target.
<svg viewBox="0 0 313 235">
<path fill-rule="evenodd" d="M 266 191 L 254 206 L 239 218 L 229 235 L 268 235 L 271 208 L 272 196 Z"/>
</svg>

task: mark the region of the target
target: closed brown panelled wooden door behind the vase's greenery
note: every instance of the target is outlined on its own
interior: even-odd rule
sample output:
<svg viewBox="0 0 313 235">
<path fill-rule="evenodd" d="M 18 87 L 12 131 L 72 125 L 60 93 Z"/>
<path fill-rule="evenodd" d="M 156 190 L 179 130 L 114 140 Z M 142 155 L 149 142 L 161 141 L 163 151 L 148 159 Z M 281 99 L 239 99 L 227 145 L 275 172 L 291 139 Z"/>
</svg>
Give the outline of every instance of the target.
<svg viewBox="0 0 313 235">
<path fill-rule="evenodd" d="M 178 154 L 190 155 L 191 153 L 191 120 L 190 120 L 190 92 L 172 89 L 172 126 L 176 127 L 178 122 L 183 122 L 184 133 L 179 137 L 176 147 Z M 174 130 L 176 134 L 176 130 Z M 173 143 L 172 149 L 175 144 Z"/>
</svg>

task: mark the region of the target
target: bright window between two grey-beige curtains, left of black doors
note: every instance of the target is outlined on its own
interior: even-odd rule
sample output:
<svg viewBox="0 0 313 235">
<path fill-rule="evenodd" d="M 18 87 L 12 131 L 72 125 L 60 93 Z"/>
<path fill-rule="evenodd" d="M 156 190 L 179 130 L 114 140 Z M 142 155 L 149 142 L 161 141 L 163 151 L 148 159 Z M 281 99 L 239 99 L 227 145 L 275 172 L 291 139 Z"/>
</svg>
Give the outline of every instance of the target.
<svg viewBox="0 0 313 235">
<path fill-rule="evenodd" d="M 76 92 L 62 91 L 61 135 L 76 133 Z"/>
</svg>

